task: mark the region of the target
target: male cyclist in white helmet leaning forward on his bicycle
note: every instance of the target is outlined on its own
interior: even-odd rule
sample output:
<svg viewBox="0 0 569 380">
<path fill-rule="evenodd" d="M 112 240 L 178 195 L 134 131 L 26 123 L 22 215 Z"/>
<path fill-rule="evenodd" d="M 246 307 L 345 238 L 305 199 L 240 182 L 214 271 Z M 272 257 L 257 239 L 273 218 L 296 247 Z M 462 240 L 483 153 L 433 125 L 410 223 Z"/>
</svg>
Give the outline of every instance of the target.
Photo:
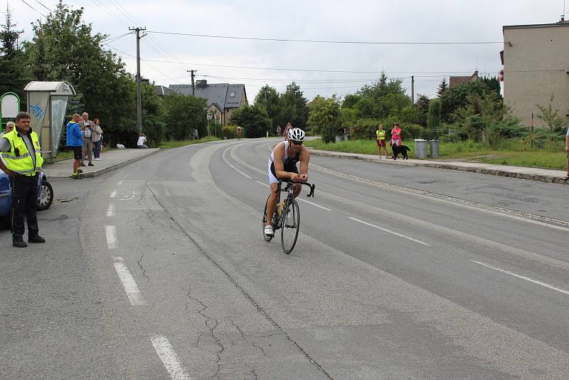
<svg viewBox="0 0 569 380">
<path fill-rule="evenodd" d="M 272 228 L 272 216 L 277 208 L 279 194 L 277 191 L 279 179 L 290 179 L 293 182 L 306 182 L 308 180 L 308 162 L 310 153 L 304 147 L 304 131 L 300 128 L 290 128 L 287 132 L 287 139 L 279 142 L 272 150 L 269 158 L 269 186 L 271 195 L 267 201 L 267 226 L 265 235 L 275 236 L 275 229 Z M 300 174 L 297 168 L 300 162 Z M 300 194 L 300 188 L 294 190 L 294 198 Z"/>
</svg>

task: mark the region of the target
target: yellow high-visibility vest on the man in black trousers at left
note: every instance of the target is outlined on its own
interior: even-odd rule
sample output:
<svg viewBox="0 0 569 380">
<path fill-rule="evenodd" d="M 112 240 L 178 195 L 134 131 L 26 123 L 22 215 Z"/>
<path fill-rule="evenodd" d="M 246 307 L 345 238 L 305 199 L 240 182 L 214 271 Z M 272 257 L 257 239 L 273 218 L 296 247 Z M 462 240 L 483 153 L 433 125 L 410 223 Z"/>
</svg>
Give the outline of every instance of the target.
<svg viewBox="0 0 569 380">
<path fill-rule="evenodd" d="M 38 134 L 31 131 L 29 134 L 31 143 L 33 144 L 34 152 L 28 152 L 28 146 L 23 141 L 16 128 L 12 132 L 4 134 L 3 139 L 8 139 L 10 142 L 10 152 L 2 153 L 4 164 L 11 171 L 18 174 L 33 175 L 37 171 L 41 171 L 43 158 L 41 157 L 41 147 L 38 139 Z M 33 166 L 33 159 L 31 154 L 36 155 L 36 167 Z"/>
</svg>

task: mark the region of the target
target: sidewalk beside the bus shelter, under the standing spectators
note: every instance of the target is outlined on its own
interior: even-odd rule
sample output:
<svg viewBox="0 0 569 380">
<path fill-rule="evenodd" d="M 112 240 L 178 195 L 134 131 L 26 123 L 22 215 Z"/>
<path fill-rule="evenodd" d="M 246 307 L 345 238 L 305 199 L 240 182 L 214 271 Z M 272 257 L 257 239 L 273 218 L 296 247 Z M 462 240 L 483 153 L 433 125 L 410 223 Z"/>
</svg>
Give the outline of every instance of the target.
<svg viewBox="0 0 569 380">
<path fill-rule="evenodd" d="M 93 161 L 94 167 L 81 167 L 83 176 L 98 176 L 107 171 L 124 167 L 131 162 L 138 161 L 151 154 L 159 152 L 159 148 L 153 149 L 112 149 L 101 153 L 100 161 Z M 43 165 L 43 172 L 48 178 L 51 177 L 70 177 L 73 171 L 73 158 L 62 159 L 58 162 L 49 164 L 47 160 Z"/>
</svg>

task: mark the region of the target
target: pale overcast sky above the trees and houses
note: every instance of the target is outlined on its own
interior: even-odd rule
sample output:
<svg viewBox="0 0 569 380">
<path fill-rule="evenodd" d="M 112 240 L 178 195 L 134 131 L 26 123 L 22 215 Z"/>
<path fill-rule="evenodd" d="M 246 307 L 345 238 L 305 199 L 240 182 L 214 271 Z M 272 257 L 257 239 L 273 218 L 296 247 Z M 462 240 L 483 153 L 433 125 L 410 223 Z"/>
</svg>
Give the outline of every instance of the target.
<svg viewBox="0 0 569 380">
<path fill-rule="evenodd" d="M 9 0 L 18 29 L 25 31 L 24 39 L 31 37 L 30 24 L 44 19 L 41 14 L 55 9 L 57 2 Z M 186 70 L 193 69 L 196 79 L 208 83 L 244 83 L 249 102 L 262 85 L 283 92 L 292 80 L 309 100 L 316 95 L 344 96 L 373 83 L 381 70 L 390 78 L 404 78 L 408 95 L 410 76 L 415 75 L 415 93 L 435 97 L 443 77 L 448 80 L 449 75 L 470 75 L 474 70 L 497 75 L 502 26 L 554 23 L 564 6 L 563 0 L 80 0 L 65 4 L 83 7 L 84 21 L 92 23 L 93 31 L 111 37 L 128 33 L 129 26 L 144 26 L 149 32 L 388 43 L 258 41 L 163 33 L 142 38 L 144 78 L 165 86 L 190 83 Z M 5 11 L 5 4 L 1 8 Z M 456 42 L 487 43 L 411 44 Z M 127 63 L 127 70 L 135 73 L 134 35 L 105 46 L 111 47 Z"/>
</svg>

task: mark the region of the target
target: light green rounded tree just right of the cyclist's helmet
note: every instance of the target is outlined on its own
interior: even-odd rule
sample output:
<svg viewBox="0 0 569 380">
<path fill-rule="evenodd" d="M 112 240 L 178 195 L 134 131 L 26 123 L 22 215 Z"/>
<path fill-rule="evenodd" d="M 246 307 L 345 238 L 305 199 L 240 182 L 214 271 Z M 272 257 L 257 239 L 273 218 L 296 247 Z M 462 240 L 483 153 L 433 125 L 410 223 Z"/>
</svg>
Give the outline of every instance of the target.
<svg viewBox="0 0 569 380">
<path fill-rule="evenodd" d="M 340 122 L 340 100 L 335 94 L 331 97 L 314 97 L 310 103 L 308 125 L 322 137 L 322 141 L 334 142 L 341 127 Z"/>
</svg>

